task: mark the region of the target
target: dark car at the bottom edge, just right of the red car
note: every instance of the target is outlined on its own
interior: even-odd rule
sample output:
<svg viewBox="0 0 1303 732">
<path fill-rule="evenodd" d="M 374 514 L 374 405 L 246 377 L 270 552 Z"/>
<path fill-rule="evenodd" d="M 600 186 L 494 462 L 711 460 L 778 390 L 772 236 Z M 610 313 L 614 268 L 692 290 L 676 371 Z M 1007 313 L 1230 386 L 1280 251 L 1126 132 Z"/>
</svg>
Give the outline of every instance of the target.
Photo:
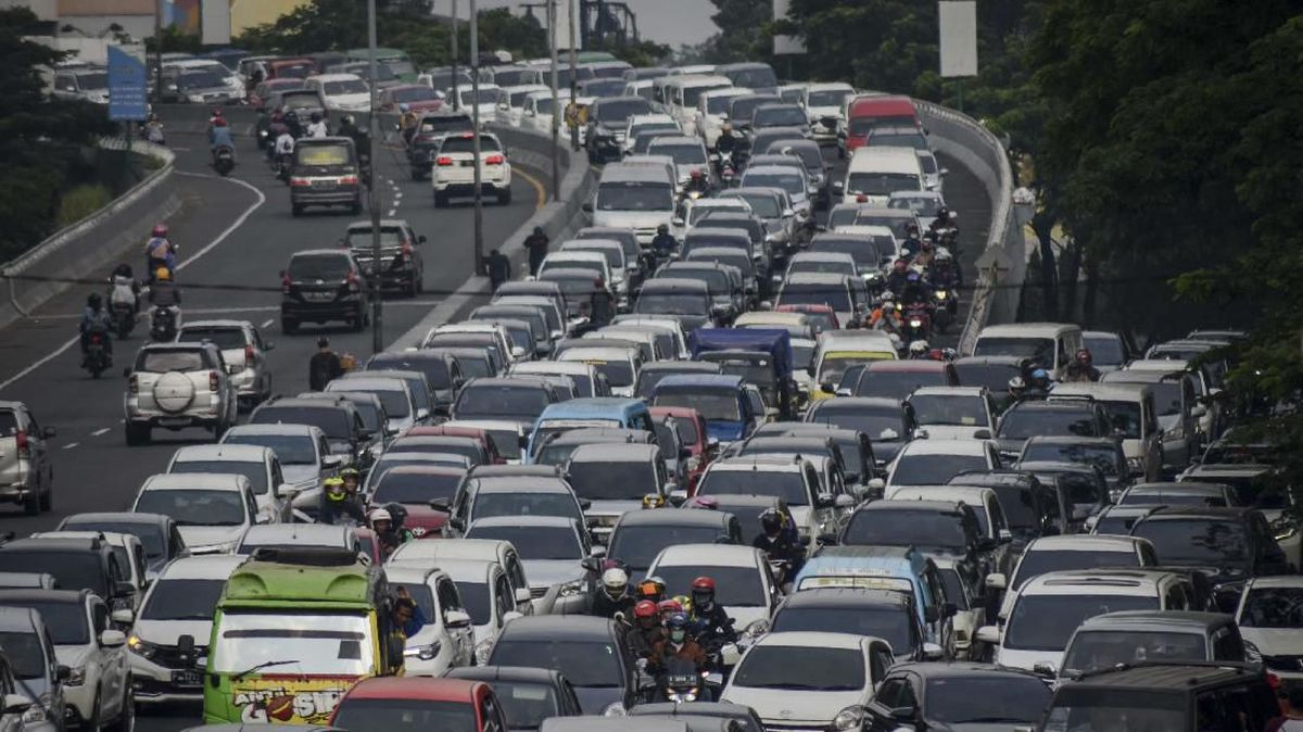
<svg viewBox="0 0 1303 732">
<path fill-rule="evenodd" d="M 549 716 L 580 716 L 575 688 L 560 671 L 520 666 L 463 666 L 450 668 L 448 679 L 486 681 L 502 702 L 511 732 L 538 729 Z"/>
</svg>

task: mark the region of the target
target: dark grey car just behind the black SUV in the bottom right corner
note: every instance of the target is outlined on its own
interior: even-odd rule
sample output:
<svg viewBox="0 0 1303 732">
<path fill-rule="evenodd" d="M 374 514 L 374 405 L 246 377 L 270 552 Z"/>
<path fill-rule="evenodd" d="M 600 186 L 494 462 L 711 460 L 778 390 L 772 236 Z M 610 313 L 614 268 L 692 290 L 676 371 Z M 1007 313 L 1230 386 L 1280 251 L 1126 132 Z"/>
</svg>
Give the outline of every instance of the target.
<svg viewBox="0 0 1303 732">
<path fill-rule="evenodd" d="M 1251 646 L 1250 646 L 1251 647 Z M 1059 680 L 1134 663 L 1250 663 L 1231 616 L 1178 610 L 1130 610 L 1083 621 L 1063 653 Z M 1264 659 L 1268 668 L 1270 659 Z M 1290 671 L 1298 671 L 1291 662 Z"/>
</svg>

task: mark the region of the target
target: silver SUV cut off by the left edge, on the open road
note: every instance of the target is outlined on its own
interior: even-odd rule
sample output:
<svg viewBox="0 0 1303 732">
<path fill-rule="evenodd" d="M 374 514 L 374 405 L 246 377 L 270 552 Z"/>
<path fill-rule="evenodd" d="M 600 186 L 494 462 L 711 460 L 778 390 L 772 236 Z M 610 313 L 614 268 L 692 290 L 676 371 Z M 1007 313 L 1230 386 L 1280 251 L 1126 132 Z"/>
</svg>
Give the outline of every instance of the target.
<svg viewBox="0 0 1303 732">
<path fill-rule="evenodd" d="M 21 504 L 27 516 L 50 511 L 55 468 L 50 458 L 53 427 L 42 427 L 21 401 L 0 401 L 0 501 Z"/>
</svg>

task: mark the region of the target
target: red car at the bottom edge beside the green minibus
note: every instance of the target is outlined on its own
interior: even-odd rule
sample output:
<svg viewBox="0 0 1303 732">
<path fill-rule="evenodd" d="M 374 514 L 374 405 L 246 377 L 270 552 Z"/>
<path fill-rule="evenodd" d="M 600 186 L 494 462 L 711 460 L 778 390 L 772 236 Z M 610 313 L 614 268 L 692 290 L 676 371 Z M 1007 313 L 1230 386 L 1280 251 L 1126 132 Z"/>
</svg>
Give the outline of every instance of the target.
<svg viewBox="0 0 1303 732">
<path fill-rule="evenodd" d="M 485 681 L 383 676 L 349 689 L 330 718 L 349 732 L 506 731 L 507 715 Z"/>
</svg>

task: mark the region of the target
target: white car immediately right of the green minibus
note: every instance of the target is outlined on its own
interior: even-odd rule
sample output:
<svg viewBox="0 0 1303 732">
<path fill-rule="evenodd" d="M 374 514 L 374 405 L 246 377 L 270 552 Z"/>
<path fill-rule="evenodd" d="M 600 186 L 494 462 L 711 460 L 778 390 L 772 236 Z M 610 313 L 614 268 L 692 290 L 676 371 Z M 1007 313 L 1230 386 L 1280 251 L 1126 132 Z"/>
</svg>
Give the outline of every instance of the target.
<svg viewBox="0 0 1303 732">
<path fill-rule="evenodd" d="M 412 595 L 425 616 L 425 625 L 403 651 L 407 675 L 443 676 L 452 667 L 472 666 L 474 630 L 452 577 L 442 569 L 405 565 L 391 565 L 384 574 L 391 587 Z"/>
</svg>

